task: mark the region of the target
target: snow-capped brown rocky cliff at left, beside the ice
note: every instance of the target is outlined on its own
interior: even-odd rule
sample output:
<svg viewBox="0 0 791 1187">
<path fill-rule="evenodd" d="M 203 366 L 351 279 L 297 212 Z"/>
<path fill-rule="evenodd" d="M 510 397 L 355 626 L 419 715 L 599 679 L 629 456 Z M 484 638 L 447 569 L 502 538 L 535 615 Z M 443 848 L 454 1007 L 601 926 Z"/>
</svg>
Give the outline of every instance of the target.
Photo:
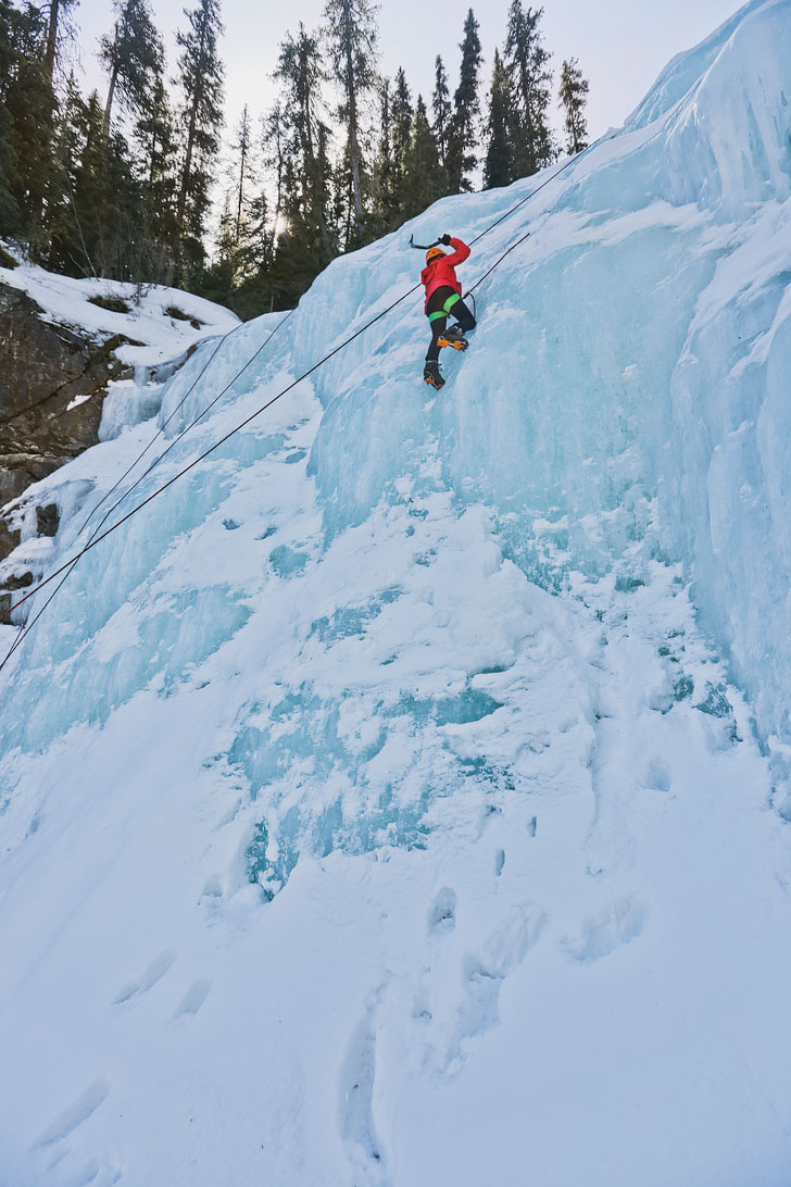
<svg viewBox="0 0 791 1187">
<path fill-rule="evenodd" d="M 198 343 L 238 325 L 191 293 L 56 275 L 0 243 L 0 622 L 45 571 L 60 514 L 90 495 L 90 481 L 62 488 L 52 471 L 97 444 L 100 426 L 111 439 L 155 415 Z"/>
</svg>

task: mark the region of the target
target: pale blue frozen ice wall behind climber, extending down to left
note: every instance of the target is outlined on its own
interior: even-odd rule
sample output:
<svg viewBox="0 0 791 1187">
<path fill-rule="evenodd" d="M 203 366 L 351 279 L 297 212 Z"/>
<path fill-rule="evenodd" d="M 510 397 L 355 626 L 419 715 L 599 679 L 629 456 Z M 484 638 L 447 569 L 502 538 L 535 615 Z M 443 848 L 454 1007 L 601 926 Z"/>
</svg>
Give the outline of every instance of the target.
<svg viewBox="0 0 791 1187">
<path fill-rule="evenodd" d="M 790 62 L 789 0 L 748 4 L 680 56 L 623 131 L 477 246 L 467 283 L 531 230 L 478 291 L 473 348 L 446 361 L 441 398 L 427 399 L 420 381 L 417 294 L 315 374 L 324 412 L 308 468 L 324 547 L 406 489 L 449 490 L 459 508 L 489 507 L 506 554 L 550 589 L 573 571 L 613 570 L 637 588 L 652 559 L 681 560 L 765 737 L 789 731 Z M 334 261 L 272 342 L 276 316 L 235 334 L 167 437 L 247 369 L 140 494 L 414 284 L 410 230 L 472 239 L 535 184 L 444 199 Z M 160 424 L 211 349 L 174 377 Z M 238 629 L 238 596 L 218 577 L 205 604 L 192 602 L 208 621 L 200 642 L 179 617 L 167 661 L 153 645 L 165 620 L 138 650 L 111 662 L 96 652 L 113 615 L 149 598 L 179 534 L 282 445 L 267 418 L 85 558 L 23 649 L 5 692 L 5 745 L 103 719 L 154 674 L 178 678 Z M 287 413 L 281 420 L 288 426 Z M 75 546 L 68 527 L 59 544 L 62 556 Z M 62 680 L 42 697 L 52 665 Z"/>
</svg>

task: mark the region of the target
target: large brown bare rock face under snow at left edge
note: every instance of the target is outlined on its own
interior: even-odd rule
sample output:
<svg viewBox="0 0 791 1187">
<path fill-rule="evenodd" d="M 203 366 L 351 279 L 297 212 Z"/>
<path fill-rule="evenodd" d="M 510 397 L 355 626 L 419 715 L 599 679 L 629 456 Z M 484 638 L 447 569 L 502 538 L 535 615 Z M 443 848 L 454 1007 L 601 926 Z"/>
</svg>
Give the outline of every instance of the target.
<svg viewBox="0 0 791 1187">
<path fill-rule="evenodd" d="M 0 506 L 96 444 L 125 341 L 46 322 L 36 301 L 0 284 Z"/>
</svg>

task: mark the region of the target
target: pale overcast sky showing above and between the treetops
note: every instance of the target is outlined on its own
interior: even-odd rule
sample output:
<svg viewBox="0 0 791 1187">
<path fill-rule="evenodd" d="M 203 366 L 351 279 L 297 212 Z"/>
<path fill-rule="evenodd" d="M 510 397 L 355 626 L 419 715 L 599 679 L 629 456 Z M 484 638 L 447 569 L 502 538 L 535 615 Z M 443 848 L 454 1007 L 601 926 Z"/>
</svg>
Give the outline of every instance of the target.
<svg viewBox="0 0 791 1187">
<path fill-rule="evenodd" d="M 190 0 L 190 6 L 194 0 Z M 413 95 L 428 102 L 434 82 L 434 57 L 441 53 L 451 80 L 458 82 L 461 26 L 468 7 L 422 0 L 382 0 L 379 12 L 379 66 L 393 77 L 403 65 Z M 525 0 L 525 7 L 528 0 Z M 536 7 L 536 0 L 532 0 Z M 162 31 L 170 72 L 176 64 L 173 32 L 184 27 L 185 0 L 152 0 Z M 287 28 L 301 20 L 313 28 L 324 0 L 223 0 L 225 36 L 221 50 L 225 62 L 229 127 L 247 102 L 259 115 L 273 101 L 269 77 L 278 44 Z M 476 0 L 480 24 L 486 80 L 495 46 L 503 45 L 509 0 Z M 637 107 L 665 63 L 722 24 L 739 7 L 738 0 L 544 0 L 544 40 L 553 51 L 556 72 L 564 57 L 576 57 L 591 81 L 588 131 L 595 138 L 620 126 Z M 104 80 L 95 59 L 96 38 L 109 28 L 109 0 L 82 0 L 76 13 L 84 81 L 104 93 Z M 228 131 L 228 129 L 227 129 Z"/>
</svg>

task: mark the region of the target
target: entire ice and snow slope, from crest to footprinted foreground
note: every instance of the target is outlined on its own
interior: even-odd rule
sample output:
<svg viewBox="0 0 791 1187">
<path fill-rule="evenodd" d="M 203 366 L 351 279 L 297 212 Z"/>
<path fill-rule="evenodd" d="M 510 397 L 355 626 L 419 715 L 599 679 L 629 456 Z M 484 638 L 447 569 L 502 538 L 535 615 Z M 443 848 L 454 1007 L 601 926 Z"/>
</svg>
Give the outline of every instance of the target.
<svg viewBox="0 0 791 1187">
<path fill-rule="evenodd" d="M 440 395 L 413 298 L 31 631 L 0 1181 L 787 1182 L 790 50 L 747 5 L 481 240 Z M 133 502 L 535 184 L 336 261 Z M 60 558 L 153 431 L 57 476 Z"/>
</svg>

